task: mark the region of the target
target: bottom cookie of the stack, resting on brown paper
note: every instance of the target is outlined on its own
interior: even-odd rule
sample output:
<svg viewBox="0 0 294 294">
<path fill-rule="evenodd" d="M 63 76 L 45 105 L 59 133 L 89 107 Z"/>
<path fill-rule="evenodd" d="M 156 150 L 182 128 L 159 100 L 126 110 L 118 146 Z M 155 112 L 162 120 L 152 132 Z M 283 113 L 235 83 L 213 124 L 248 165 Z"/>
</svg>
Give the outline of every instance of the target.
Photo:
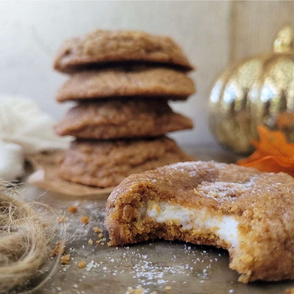
<svg viewBox="0 0 294 294">
<path fill-rule="evenodd" d="M 193 160 L 167 137 L 74 141 L 59 162 L 62 178 L 88 186 L 116 186 L 132 173 Z"/>
</svg>

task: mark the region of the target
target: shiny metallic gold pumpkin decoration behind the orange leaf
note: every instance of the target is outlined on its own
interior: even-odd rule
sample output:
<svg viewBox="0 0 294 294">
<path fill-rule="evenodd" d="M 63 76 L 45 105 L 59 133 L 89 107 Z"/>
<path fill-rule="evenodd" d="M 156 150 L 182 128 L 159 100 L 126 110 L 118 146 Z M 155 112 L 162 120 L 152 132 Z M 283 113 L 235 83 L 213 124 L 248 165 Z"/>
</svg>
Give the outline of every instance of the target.
<svg viewBox="0 0 294 294">
<path fill-rule="evenodd" d="M 260 124 L 294 142 L 293 29 L 278 33 L 272 53 L 226 69 L 211 90 L 208 109 L 212 133 L 237 153 L 253 151 Z"/>
</svg>

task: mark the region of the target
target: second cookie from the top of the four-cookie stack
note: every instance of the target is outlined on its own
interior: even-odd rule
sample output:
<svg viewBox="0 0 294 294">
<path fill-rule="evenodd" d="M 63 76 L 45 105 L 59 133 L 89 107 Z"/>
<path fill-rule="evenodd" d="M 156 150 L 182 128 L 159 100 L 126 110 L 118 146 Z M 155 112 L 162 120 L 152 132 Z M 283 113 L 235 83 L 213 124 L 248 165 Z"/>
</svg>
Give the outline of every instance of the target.
<svg viewBox="0 0 294 294">
<path fill-rule="evenodd" d="M 136 96 L 185 100 L 195 92 L 193 81 L 169 68 L 114 68 L 75 73 L 59 89 L 57 101 Z"/>
</svg>

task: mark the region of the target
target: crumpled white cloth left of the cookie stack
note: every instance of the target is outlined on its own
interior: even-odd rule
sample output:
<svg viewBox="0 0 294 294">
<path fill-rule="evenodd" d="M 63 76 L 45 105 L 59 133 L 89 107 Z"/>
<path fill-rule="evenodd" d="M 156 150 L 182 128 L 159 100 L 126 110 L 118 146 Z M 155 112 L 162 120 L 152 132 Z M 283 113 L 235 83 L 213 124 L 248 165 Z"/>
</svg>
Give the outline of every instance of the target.
<svg viewBox="0 0 294 294">
<path fill-rule="evenodd" d="M 67 148 L 71 138 L 57 136 L 53 125 L 31 99 L 0 94 L 0 178 L 22 176 L 27 154 Z"/>
</svg>

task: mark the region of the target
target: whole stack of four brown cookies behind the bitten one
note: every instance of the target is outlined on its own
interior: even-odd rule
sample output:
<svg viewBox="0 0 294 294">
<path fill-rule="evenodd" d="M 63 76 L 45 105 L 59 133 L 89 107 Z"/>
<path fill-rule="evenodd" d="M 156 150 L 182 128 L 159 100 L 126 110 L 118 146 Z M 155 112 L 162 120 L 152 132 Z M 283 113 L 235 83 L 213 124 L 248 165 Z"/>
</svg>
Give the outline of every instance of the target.
<svg viewBox="0 0 294 294">
<path fill-rule="evenodd" d="M 181 48 L 142 32 L 95 31 L 64 44 L 54 68 L 71 74 L 57 101 L 74 100 L 56 126 L 76 140 L 59 163 L 61 177 L 89 186 L 116 186 L 132 173 L 194 158 L 166 137 L 192 128 L 167 100 L 195 92 Z"/>
</svg>

